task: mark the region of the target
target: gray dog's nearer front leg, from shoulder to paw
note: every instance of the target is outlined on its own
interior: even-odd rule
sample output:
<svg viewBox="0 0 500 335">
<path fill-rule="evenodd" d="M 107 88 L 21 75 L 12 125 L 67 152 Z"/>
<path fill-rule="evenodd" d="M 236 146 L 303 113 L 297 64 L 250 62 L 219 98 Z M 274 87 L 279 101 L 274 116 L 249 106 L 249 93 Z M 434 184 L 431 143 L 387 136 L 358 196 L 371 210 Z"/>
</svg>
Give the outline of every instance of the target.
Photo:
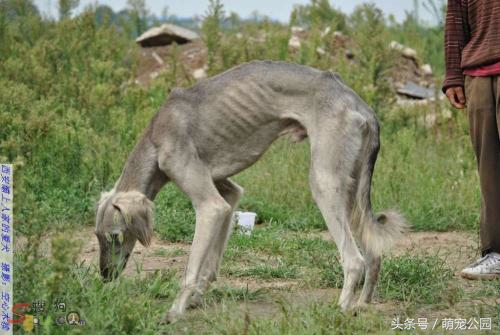
<svg viewBox="0 0 500 335">
<path fill-rule="evenodd" d="M 210 170 L 189 146 L 171 152 L 159 161 L 160 168 L 191 198 L 196 211 L 196 227 L 186 273 L 168 315 L 173 322 L 182 316 L 196 294 L 202 294 L 209 281 L 210 269 L 215 269 L 215 255 L 219 235 L 224 230 L 232 206 L 219 193 Z"/>
</svg>

